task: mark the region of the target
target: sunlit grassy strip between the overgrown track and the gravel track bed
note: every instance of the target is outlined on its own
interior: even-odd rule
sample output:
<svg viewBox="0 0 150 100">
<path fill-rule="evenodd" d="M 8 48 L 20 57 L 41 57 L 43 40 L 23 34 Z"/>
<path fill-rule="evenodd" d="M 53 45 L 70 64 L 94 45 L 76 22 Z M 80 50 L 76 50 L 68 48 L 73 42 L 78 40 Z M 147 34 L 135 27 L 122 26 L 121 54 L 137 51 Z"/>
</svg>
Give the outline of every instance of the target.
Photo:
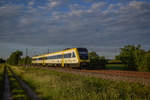
<svg viewBox="0 0 150 100">
<path fill-rule="evenodd" d="M 46 69 L 14 66 L 12 69 L 45 100 L 150 100 L 150 87 L 137 83 Z"/>
</svg>

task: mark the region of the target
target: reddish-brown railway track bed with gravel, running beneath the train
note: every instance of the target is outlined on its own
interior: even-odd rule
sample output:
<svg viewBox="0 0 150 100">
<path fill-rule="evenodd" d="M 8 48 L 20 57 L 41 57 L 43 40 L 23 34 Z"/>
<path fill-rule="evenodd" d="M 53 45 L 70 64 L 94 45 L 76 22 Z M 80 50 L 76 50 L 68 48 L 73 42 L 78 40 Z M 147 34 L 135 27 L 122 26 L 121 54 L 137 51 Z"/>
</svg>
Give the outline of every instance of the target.
<svg viewBox="0 0 150 100">
<path fill-rule="evenodd" d="M 77 75 L 91 76 L 114 81 L 136 82 L 150 86 L 150 72 L 119 71 L 119 70 L 86 70 L 60 67 L 37 67 Z"/>
</svg>

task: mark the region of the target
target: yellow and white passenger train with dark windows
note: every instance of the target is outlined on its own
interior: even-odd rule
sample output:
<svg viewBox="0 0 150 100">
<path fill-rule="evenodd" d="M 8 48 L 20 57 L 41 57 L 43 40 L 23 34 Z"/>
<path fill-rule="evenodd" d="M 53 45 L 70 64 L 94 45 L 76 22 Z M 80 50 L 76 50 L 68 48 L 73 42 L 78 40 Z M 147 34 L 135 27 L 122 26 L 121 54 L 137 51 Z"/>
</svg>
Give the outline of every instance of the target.
<svg viewBox="0 0 150 100">
<path fill-rule="evenodd" d="M 88 67 L 89 63 L 87 48 L 67 48 L 32 57 L 32 65 L 84 68 Z"/>
</svg>

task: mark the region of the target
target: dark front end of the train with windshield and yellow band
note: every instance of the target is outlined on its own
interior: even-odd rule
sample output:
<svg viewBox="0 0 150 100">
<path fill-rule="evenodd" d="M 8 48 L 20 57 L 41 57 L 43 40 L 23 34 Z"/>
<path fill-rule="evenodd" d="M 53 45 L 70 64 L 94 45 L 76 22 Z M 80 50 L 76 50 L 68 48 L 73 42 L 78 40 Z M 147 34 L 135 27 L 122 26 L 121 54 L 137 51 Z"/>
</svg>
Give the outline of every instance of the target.
<svg viewBox="0 0 150 100">
<path fill-rule="evenodd" d="M 80 68 L 86 68 L 89 66 L 90 59 L 88 56 L 88 50 L 86 48 L 77 48 L 80 58 Z"/>
</svg>

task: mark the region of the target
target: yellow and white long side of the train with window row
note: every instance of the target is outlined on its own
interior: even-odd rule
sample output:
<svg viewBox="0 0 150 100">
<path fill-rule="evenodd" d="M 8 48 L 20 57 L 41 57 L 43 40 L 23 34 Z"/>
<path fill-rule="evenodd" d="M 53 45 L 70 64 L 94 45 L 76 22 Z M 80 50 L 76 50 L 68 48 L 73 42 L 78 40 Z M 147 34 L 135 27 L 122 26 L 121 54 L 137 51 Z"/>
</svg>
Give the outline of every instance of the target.
<svg viewBox="0 0 150 100">
<path fill-rule="evenodd" d="M 79 55 L 80 53 L 80 55 Z M 60 52 L 49 53 L 41 56 L 32 57 L 32 64 L 36 65 L 52 65 L 52 66 L 71 66 L 80 67 L 81 65 L 87 65 L 89 59 L 80 59 L 81 52 L 78 52 L 77 48 L 63 50 Z"/>
</svg>

